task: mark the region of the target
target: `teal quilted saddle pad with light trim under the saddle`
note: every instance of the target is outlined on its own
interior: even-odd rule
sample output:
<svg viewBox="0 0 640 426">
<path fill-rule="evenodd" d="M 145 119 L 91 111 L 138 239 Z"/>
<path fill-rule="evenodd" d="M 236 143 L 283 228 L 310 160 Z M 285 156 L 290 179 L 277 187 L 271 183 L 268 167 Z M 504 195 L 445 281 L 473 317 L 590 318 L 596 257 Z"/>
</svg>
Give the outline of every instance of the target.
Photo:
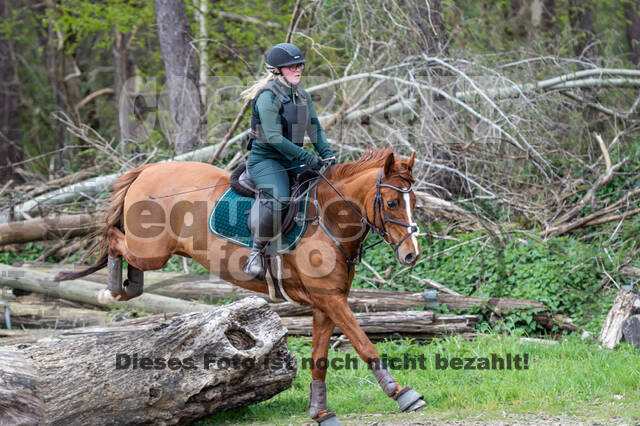
<svg viewBox="0 0 640 426">
<path fill-rule="evenodd" d="M 300 211 L 296 218 L 295 227 L 281 238 L 276 238 L 278 253 L 293 250 L 307 230 L 306 219 L 309 214 L 309 199 L 311 191 L 304 197 Z M 218 199 L 209 214 L 209 231 L 218 238 L 230 241 L 242 247 L 253 246 L 253 236 L 249 231 L 249 211 L 255 198 L 243 197 L 233 189 L 227 189 Z M 273 244 L 273 243 L 272 243 Z"/>
</svg>

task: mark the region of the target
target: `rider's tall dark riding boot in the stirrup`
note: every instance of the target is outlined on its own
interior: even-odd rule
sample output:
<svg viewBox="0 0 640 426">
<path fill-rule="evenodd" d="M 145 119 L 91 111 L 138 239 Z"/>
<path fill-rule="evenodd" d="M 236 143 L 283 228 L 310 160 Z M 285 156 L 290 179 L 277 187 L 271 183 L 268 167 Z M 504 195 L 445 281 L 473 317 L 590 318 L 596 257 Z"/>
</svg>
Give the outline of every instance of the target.
<svg viewBox="0 0 640 426">
<path fill-rule="evenodd" d="M 251 218 L 253 247 L 242 270 L 245 274 L 262 281 L 266 270 L 264 252 L 268 249 L 269 241 L 280 232 L 280 218 L 274 214 L 272 206 L 267 201 L 258 199 L 255 204 L 257 206 L 252 208 L 251 215 L 257 214 L 259 217 Z"/>
</svg>

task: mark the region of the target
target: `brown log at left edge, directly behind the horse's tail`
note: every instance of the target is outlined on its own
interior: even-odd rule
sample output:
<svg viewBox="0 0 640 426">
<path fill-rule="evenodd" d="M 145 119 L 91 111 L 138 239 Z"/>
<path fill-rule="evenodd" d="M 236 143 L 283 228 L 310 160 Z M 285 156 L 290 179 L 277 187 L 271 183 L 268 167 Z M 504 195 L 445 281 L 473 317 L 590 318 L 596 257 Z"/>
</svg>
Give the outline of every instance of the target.
<svg viewBox="0 0 640 426">
<path fill-rule="evenodd" d="M 0 224 L 0 245 L 77 237 L 97 229 L 99 218 L 90 214 L 48 216 Z"/>
</svg>

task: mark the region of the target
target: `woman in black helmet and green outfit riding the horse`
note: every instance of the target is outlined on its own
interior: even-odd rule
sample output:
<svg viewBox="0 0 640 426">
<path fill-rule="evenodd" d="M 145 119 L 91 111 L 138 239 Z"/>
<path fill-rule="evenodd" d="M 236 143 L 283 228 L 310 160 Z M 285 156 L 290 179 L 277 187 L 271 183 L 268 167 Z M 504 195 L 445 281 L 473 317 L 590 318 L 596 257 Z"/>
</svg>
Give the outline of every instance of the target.
<svg viewBox="0 0 640 426">
<path fill-rule="evenodd" d="M 260 190 L 258 235 L 243 270 L 258 279 L 264 277 L 266 244 L 279 234 L 290 176 L 335 162 L 311 96 L 298 86 L 305 62 L 297 46 L 276 44 L 267 54 L 267 75 L 242 93 L 253 100 L 247 170 Z M 305 132 L 320 157 L 302 148 Z"/>
</svg>

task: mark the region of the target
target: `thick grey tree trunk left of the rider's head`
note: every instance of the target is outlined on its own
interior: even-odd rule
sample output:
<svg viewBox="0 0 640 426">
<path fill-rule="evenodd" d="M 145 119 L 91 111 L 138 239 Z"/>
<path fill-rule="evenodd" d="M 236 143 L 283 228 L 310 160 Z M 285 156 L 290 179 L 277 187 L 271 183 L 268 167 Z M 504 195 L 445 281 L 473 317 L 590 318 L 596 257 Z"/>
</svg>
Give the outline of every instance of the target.
<svg viewBox="0 0 640 426">
<path fill-rule="evenodd" d="M 170 128 L 164 130 L 176 151 L 187 152 L 204 142 L 206 134 L 197 51 L 191 46 L 184 1 L 155 0 L 154 4 L 171 112 L 171 123 L 165 123 Z"/>
</svg>

